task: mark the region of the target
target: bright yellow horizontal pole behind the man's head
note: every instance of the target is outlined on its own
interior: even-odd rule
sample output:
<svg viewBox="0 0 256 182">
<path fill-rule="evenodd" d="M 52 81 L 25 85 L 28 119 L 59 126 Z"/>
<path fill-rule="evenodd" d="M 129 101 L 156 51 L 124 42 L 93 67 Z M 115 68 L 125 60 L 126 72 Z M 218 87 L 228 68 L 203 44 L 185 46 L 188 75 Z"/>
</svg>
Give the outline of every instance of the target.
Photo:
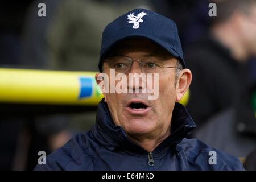
<svg viewBox="0 0 256 182">
<path fill-rule="evenodd" d="M 96 106 L 103 95 L 95 73 L 0 68 L 0 102 Z"/>
</svg>

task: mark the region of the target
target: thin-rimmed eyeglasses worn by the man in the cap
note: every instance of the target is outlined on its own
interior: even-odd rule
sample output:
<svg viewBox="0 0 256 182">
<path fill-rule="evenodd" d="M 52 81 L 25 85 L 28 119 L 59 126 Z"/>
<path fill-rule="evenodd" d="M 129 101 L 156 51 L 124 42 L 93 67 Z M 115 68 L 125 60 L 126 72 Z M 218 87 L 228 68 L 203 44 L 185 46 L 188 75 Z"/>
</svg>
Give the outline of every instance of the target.
<svg viewBox="0 0 256 182">
<path fill-rule="evenodd" d="M 110 69 L 115 69 L 115 72 L 118 72 L 118 73 L 129 72 L 133 62 L 139 63 L 139 68 L 141 69 L 142 73 L 161 73 L 163 72 L 164 68 L 180 69 L 178 67 L 167 67 L 166 65 L 163 65 L 162 63 L 156 60 L 148 59 L 148 60 L 138 61 L 138 60 L 133 60 L 131 59 L 131 57 L 126 57 L 126 56 L 109 57 L 108 59 L 105 60 L 105 62 L 107 63 Z"/>
</svg>

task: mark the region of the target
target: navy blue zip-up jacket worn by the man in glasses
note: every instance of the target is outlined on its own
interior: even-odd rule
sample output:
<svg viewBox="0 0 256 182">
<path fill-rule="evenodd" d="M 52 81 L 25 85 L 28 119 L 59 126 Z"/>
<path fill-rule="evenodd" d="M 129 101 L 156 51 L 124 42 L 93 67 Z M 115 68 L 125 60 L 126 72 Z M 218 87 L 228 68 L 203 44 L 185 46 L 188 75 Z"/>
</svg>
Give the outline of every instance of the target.
<svg viewBox="0 0 256 182">
<path fill-rule="evenodd" d="M 130 142 L 122 127 L 113 124 L 108 106 L 101 100 L 92 129 L 75 135 L 35 170 L 243 170 L 237 158 L 200 140 L 185 138 L 194 127 L 185 107 L 176 103 L 171 135 L 147 152 Z M 217 154 L 216 164 L 209 163 L 210 151 Z"/>
</svg>

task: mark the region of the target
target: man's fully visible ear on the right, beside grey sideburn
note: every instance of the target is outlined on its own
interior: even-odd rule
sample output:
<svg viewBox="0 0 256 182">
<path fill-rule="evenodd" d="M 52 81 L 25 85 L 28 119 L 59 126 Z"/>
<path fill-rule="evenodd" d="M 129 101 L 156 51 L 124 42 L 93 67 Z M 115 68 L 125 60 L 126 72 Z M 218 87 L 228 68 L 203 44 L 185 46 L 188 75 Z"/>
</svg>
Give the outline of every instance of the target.
<svg viewBox="0 0 256 182">
<path fill-rule="evenodd" d="M 189 69 L 182 69 L 176 85 L 176 101 L 179 102 L 188 90 L 192 81 L 192 73 Z"/>
</svg>

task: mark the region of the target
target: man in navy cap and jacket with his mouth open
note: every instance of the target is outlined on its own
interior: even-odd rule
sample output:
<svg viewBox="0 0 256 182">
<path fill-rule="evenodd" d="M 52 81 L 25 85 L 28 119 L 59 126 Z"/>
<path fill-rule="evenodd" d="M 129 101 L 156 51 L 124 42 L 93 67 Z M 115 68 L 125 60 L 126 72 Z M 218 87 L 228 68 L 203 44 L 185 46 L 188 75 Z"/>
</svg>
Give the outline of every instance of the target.
<svg viewBox="0 0 256 182">
<path fill-rule="evenodd" d="M 233 156 L 185 138 L 196 125 L 176 101 L 192 75 L 185 69 L 172 20 L 146 9 L 115 19 L 102 34 L 98 67 L 104 73 L 97 73 L 96 81 L 105 98 L 98 104 L 96 124 L 47 156 L 46 165 L 36 170 L 243 170 Z M 149 99 L 151 88 L 142 92 L 143 79 L 120 86 L 129 92 L 111 92 L 113 85 L 106 83 L 113 71 L 123 79 L 156 75 L 151 86 L 158 87 L 158 97 Z"/>
</svg>

